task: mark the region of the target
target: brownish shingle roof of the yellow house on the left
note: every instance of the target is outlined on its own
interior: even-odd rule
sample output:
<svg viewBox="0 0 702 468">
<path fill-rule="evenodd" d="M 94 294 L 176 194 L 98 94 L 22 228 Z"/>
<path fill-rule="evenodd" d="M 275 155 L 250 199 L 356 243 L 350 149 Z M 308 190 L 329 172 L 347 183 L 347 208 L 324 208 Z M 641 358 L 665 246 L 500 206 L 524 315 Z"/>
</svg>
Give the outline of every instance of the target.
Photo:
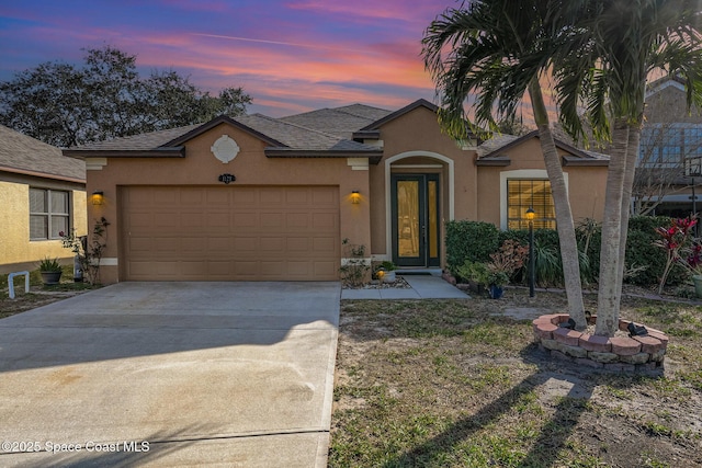
<svg viewBox="0 0 702 468">
<path fill-rule="evenodd" d="M 86 182 L 86 163 L 55 146 L 0 125 L 0 171 Z"/>
</svg>

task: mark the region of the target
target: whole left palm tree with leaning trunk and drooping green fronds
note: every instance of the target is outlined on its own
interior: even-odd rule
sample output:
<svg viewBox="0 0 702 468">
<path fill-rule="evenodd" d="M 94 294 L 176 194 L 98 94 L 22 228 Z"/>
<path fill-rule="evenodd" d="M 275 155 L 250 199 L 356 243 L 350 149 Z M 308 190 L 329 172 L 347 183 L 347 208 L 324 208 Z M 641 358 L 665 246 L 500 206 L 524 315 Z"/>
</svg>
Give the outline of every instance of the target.
<svg viewBox="0 0 702 468">
<path fill-rule="evenodd" d="M 464 103 L 477 93 L 474 132 L 496 130 L 497 117 L 509 118 L 529 93 L 552 194 L 561 242 L 568 312 L 582 330 L 587 322 L 578 264 L 575 226 L 540 79 L 552 57 L 568 39 L 554 30 L 551 2 L 475 0 L 465 9 L 449 9 L 427 28 L 422 56 L 440 95 L 439 119 L 454 138 L 466 137 Z"/>
</svg>

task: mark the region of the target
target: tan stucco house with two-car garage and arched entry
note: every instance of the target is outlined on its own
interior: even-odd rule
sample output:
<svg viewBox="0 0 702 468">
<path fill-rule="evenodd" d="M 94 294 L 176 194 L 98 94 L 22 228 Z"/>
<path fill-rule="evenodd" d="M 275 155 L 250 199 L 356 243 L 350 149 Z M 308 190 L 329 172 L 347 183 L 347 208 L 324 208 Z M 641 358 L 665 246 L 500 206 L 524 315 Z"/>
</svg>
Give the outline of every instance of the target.
<svg viewBox="0 0 702 468">
<path fill-rule="evenodd" d="M 354 104 L 64 150 L 83 158 L 89 220 L 104 216 L 101 277 L 335 281 L 350 244 L 400 267 L 444 266 L 452 219 L 554 226 L 536 134 L 456 145 L 437 107 Z M 576 219 L 600 218 L 608 159 L 558 142 Z"/>
</svg>

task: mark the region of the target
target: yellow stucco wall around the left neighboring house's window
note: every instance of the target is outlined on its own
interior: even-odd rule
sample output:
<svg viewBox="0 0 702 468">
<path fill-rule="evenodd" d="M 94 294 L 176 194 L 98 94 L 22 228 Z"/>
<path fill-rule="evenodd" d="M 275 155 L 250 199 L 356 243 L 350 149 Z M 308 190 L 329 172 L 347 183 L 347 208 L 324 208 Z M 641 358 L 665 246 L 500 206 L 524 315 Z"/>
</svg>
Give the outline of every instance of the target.
<svg viewBox="0 0 702 468">
<path fill-rule="evenodd" d="M 63 187 L 67 190 L 67 187 Z M 79 236 L 86 233 L 86 192 L 71 190 L 72 224 Z M 70 261 L 72 253 L 60 240 L 30 241 L 30 185 L 0 181 L 0 273 L 34 270 L 45 256 Z"/>
</svg>

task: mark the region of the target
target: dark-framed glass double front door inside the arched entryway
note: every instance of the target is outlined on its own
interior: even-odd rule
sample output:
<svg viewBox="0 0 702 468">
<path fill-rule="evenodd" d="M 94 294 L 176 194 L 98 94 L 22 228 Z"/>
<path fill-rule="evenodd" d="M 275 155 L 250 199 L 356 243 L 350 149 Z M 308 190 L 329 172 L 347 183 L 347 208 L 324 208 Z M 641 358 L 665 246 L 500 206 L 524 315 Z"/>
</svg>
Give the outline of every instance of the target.
<svg viewBox="0 0 702 468">
<path fill-rule="evenodd" d="M 439 266 L 439 174 L 392 176 L 393 262 Z"/>
</svg>

